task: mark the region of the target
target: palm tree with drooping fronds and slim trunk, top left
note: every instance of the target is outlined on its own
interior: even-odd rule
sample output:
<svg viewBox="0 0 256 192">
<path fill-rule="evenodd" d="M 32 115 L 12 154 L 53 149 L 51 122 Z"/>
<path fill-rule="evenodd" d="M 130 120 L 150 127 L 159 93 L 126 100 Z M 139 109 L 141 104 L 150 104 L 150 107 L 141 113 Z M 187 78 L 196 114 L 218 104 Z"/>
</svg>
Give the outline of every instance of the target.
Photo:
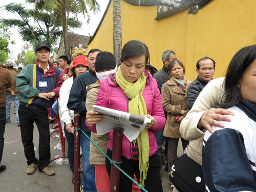
<svg viewBox="0 0 256 192">
<path fill-rule="evenodd" d="M 54 14 L 61 16 L 65 52 L 66 55 L 70 57 L 71 52 L 69 50 L 68 41 L 68 22 L 70 13 L 73 13 L 76 16 L 78 13 L 83 13 L 84 17 L 87 15 L 87 23 L 89 23 L 89 10 L 95 13 L 99 10 L 99 4 L 96 0 L 36 0 L 36 9 L 53 10 Z"/>
</svg>

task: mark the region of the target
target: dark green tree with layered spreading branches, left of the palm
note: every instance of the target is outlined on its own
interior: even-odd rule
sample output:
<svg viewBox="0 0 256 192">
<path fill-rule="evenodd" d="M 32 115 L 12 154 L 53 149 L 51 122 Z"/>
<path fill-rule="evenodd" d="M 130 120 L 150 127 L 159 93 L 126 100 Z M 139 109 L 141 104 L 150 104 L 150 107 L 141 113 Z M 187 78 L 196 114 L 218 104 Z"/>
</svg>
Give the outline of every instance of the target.
<svg viewBox="0 0 256 192">
<path fill-rule="evenodd" d="M 27 0 L 29 4 L 35 5 L 36 1 Z M 59 42 L 62 31 L 61 17 L 51 10 L 27 9 L 23 4 L 10 3 L 4 6 L 5 11 L 17 13 L 20 19 L 2 19 L 10 27 L 18 27 L 18 32 L 24 41 L 29 41 L 33 46 L 39 42 L 46 42 L 50 47 Z M 68 20 L 70 28 L 81 28 L 82 23 L 77 18 Z"/>
</svg>

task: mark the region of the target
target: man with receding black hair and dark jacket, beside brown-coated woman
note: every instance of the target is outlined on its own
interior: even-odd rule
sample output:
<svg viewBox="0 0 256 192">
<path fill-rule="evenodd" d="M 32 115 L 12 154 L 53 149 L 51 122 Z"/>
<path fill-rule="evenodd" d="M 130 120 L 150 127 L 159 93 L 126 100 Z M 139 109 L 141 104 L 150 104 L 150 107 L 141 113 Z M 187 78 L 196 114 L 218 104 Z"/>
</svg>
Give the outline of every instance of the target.
<svg viewBox="0 0 256 192">
<path fill-rule="evenodd" d="M 197 61 L 196 73 L 198 77 L 190 83 L 187 89 L 188 111 L 192 108 L 200 92 L 210 82 L 215 74 L 215 61 L 209 57 L 203 57 Z"/>
</svg>

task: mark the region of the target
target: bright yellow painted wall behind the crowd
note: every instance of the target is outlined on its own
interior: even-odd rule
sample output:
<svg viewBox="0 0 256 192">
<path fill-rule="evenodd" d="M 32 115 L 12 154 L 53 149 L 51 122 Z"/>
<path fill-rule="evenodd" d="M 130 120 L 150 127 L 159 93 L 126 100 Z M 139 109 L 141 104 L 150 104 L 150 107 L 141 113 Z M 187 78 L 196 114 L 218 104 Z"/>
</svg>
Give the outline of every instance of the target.
<svg viewBox="0 0 256 192">
<path fill-rule="evenodd" d="M 139 7 L 121 0 L 122 44 L 141 40 L 150 50 L 151 63 L 162 68 L 165 50 L 177 53 L 193 81 L 198 59 L 208 56 L 216 61 L 214 78 L 222 77 L 232 56 L 242 47 L 256 44 L 255 0 L 214 0 L 196 14 L 188 9 L 160 20 L 156 6 Z M 113 52 L 111 3 L 108 13 L 88 47 Z"/>
</svg>

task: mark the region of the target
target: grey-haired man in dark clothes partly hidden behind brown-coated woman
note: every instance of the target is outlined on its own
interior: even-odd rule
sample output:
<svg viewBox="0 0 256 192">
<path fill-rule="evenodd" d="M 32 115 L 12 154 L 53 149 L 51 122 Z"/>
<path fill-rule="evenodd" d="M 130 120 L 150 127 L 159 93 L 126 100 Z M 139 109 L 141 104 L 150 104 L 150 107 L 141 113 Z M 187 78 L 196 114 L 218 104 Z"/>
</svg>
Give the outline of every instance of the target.
<svg viewBox="0 0 256 192">
<path fill-rule="evenodd" d="M 170 74 L 168 73 L 168 65 L 170 63 L 170 61 L 173 60 L 177 60 L 177 55 L 174 51 L 170 51 L 170 50 L 166 50 L 163 52 L 162 54 L 162 61 L 163 61 L 163 68 L 160 69 L 158 72 L 156 72 L 153 76 L 153 78 L 155 78 L 157 80 L 157 85 L 158 85 L 158 89 L 161 93 L 162 91 L 162 85 L 163 83 L 165 83 L 167 80 L 169 80 L 170 78 L 172 78 L 172 76 L 170 76 Z M 165 117 L 167 116 L 167 114 L 165 113 Z M 163 144 L 163 129 L 155 132 L 156 134 L 156 141 L 157 141 L 157 154 L 158 156 L 161 158 L 161 151 L 162 151 L 162 144 Z M 165 142 L 165 147 L 167 149 L 167 142 Z M 167 150 L 165 150 L 165 153 L 167 154 Z M 162 164 L 162 160 L 161 160 L 161 164 Z M 166 166 L 167 168 L 167 166 Z M 165 169 L 166 169 L 165 168 Z M 161 169 L 161 167 L 160 167 Z"/>
</svg>

